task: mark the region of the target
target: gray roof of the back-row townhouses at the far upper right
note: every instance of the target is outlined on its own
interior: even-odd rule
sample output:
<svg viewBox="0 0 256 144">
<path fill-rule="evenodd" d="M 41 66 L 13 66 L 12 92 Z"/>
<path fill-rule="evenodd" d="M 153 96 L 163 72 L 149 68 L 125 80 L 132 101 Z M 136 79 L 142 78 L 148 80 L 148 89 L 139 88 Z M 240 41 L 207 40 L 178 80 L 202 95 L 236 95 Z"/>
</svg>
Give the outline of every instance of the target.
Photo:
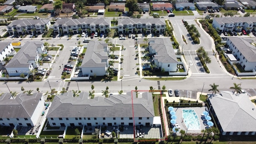
<svg viewBox="0 0 256 144">
<path fill-rule="evenodd" d="M 253 17 L 232 17 L 232 18 L 214 18 L 218 24 L 231 24 L 238 22 L 246 22 L 247 24 L 252 24 L 256 22 L 256 18 Z"/>
</svg>

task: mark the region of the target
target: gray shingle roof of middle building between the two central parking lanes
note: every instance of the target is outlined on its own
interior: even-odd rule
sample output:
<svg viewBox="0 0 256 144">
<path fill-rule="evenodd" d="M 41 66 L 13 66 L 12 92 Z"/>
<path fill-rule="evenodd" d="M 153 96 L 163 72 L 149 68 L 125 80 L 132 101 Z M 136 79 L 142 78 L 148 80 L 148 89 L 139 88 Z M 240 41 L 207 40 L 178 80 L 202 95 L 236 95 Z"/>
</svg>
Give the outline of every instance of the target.
<svg viewBox="0 0 256 144">
<path fill-rule="evenodd" d="M 104 49 L 104 47 L 106 49 Z M 95 67 L 106 67 L 108 61 L 108 44 L 104 42 L 90 41 L 87 50 L 84 55 L 81 67 L 95 68 Z"/>
</svg>

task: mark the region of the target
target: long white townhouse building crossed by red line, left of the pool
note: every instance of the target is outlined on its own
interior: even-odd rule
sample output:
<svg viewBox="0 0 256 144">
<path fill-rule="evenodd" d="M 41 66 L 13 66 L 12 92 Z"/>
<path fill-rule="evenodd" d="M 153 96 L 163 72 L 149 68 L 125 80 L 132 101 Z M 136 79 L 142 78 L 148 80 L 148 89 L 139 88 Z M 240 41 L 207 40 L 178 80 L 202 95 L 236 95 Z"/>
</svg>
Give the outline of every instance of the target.
<svg viewBox="0 0 256 144">
<path fill-rule="evenodd" d="M 89 93 L 78 97 L 73 92 L 56 95 L 46 118 L 50 126 L 134 126 L 153 125 L 154 107 L 152 94 L 136 92 L 97 96 L 88 99 Z"/>
</svg>

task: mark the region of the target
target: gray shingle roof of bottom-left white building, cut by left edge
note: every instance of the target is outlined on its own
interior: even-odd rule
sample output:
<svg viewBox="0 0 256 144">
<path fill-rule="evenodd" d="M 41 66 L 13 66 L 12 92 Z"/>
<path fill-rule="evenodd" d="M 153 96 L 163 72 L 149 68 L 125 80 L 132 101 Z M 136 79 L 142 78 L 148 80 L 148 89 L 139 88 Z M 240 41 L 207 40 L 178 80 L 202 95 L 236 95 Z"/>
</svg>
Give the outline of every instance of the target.
<svg viewBox="0 0 256 144">
<path fill-rule="evenodd" d="M 42 93 L 18 94 L 15 99 L 11 93 L 4 93 L 0 97 L 0 118 L 31 118 L 40 102 Z"/>
</svg>

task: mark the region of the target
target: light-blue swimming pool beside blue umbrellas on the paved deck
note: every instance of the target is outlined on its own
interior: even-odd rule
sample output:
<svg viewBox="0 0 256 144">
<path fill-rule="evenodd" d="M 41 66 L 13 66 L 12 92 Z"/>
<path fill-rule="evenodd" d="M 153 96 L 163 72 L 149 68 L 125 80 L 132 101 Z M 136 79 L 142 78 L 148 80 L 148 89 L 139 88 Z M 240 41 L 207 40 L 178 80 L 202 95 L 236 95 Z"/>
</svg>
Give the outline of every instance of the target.
<svg viewBox="0 0 256 144">
<path fill-rule="evenodd" d="M 194 110 L 182 110 L 182 117 L 188 130 L 201 130 L 199 118 Z"/>
</svg>

